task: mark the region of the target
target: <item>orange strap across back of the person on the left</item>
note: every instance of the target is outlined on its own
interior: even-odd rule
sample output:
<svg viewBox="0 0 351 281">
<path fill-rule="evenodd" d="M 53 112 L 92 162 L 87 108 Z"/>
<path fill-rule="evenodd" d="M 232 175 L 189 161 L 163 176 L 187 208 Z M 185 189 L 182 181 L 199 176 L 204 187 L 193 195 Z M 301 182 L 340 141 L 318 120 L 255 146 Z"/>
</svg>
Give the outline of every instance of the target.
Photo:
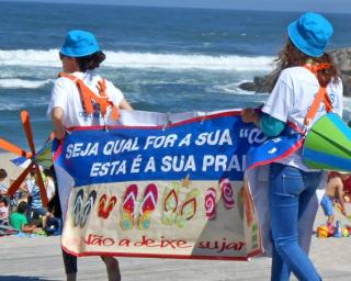
<svg viewBox="0 0 351 281">
<path fill-rule="evenodd" d="M 60 72 L 59 77 L 69 78 L 77 85 L 80 93 L 80 98 L 82 100 L 82 103 L 88 114 L 92 114 L 94 111 L 93 103 L 92 103 L 92 100 L 93 100 L 97 103 L 99 103 L 102 116 L 105 116 L 107 106 L 112 106 L 112 112 L 111 112 L 112 119 L 117 120 L 120 117 L 118 109 L 113 104 L 113 102 L 109 101 L 109 97 L 106 94 L 105 79 L 102 79 L 101 81 L 98 82 L 98 88 L 100 92 L 100 97 L 99 97 L 92 90 L 90 90 L 90 88 L 81 79 L 78 79 L 73 75 L 67 75 L 65 72 Z"/>
</svg>

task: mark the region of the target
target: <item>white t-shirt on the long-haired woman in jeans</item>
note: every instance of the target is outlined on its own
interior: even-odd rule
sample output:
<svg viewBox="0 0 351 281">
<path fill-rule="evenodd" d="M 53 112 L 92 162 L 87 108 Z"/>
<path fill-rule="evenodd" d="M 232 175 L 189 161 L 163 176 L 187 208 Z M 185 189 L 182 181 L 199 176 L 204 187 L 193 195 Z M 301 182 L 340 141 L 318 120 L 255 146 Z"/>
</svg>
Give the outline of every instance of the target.
<svg viewBox="0 0 351 281">
<path fill-rule="evenodd" d="M 304 128 L 304 121 L 309 106 L 319 90 L 319 83 L 315 75 L 305 67 L 290 67 L 284 69 L 262 111 L 283 121 L 293 122 Z M 342 82 L 330 82 L 327 92 L 332 103 L 333 112 L 342 115 Z M 319 105 L 312 124 L 326 113 L 325 104 Z M 281 159 L 280 162 L 297 167 L 303 170 L 308 168 L 302 161 L 302 149 Z"/>
</svg>

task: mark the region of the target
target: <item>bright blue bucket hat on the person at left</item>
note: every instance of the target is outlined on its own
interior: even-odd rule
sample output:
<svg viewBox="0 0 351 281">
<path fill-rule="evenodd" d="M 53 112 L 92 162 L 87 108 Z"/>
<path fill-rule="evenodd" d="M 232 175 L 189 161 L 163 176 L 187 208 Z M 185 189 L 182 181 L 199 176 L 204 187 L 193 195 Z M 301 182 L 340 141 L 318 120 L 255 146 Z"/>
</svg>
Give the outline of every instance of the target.
<svg viewBox="0 0 351 281">
<path fill-rule="evenodd" d="M 59 52 L 68 57 L 83 57 L 98 50 L 100 50 L 100 47 L 92 33 L 73 30 L 68 32 Z"/>
</svg>

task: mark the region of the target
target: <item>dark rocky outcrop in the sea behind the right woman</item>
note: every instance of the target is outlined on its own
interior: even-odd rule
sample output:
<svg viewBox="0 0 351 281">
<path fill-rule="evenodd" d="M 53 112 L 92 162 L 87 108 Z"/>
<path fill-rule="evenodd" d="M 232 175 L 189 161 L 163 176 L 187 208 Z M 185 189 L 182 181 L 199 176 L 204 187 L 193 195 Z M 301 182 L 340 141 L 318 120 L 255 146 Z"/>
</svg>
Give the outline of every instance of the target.
<svg viewBox="0 0 351 281">
<path fill-rule="evenodd" d="M 335 61 L 341 71 L 341 80 L 343 82 L 343 95 L 351 97 L 351 48 L 340 48 L 330 52 Z M 254 77 L 252 82 L 244 82 L 239 86 L 242 90 L 254 92 L 270 92 L 276 81 L 278 72 L 263 77 Z"/>
</svg>

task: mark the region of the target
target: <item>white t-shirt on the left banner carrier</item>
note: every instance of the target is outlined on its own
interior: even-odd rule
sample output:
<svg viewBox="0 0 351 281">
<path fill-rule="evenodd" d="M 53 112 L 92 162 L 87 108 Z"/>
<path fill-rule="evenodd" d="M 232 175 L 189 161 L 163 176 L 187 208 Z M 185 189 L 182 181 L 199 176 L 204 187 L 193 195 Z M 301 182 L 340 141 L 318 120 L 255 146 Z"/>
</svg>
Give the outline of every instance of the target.
<svg viewBox="0 0 351 281">
<path fill-rule="evenodd" d="M 98 81 L 102 78 L 93 71 L 73 72 L 75 77 L 81 79 L 97 95 L 99 94 Z M 106 95 L 115 106 L 118 106 L 124 99 L 123 93 L 106 80 Z M 50 116 L 54 108 L 64 110 L 64 125 L 72 126 L 93 126 L 93 125 L 112 125 L 115 121 L 110 119 L 111 106 L 106 110 L 106 123 L 101 115 L 99 104 L 94 104 L 94 112 L 88 114 L 82 106 L 82 101 L 76 82 L 66 77 L 60 77 L 55 81 L 47 114 Z"/>
</svg>

